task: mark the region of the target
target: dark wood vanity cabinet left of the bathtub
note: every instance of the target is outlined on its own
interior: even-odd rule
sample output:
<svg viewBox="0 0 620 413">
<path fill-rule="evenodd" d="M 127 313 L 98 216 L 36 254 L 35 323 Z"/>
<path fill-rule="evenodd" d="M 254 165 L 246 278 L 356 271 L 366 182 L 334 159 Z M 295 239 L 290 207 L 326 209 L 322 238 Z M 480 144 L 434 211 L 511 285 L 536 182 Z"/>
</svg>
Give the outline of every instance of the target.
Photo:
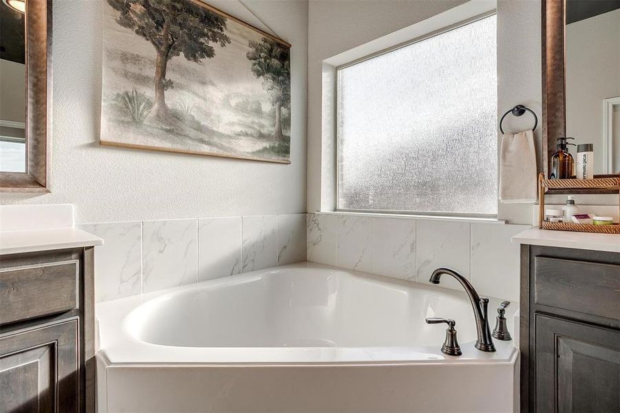
<svg viewBox="0 0 620 413">
<path fill-rule="evenodd" d="M 0 412 L 94 412 L 93 248 L 0 257 Z"/>
</svg>

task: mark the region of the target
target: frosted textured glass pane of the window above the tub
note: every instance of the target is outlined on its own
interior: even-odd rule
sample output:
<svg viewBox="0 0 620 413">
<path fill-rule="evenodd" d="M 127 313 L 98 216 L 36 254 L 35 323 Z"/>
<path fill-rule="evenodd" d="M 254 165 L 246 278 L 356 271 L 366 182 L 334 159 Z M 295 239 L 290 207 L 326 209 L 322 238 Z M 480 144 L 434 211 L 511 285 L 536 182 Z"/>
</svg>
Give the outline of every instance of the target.
<svg viewBox="0 0 620 413">
<path fill-rule="evenodd" d="M 340 68 L 338 208 L 497 213 L 495 15 Z"/>
</svg>

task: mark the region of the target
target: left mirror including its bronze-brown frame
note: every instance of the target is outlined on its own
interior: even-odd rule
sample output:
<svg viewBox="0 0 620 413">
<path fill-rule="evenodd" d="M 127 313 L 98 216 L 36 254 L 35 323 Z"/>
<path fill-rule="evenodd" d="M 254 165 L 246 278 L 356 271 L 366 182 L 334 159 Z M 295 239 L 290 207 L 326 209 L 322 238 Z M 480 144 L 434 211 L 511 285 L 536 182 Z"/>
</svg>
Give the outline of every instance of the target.
<svg viewBox="0 0 620 413">
<path fill-rule="evenodd" d="M 0 191 L 49 191 L 52 0 L 0 0 Z"/>
</svg>

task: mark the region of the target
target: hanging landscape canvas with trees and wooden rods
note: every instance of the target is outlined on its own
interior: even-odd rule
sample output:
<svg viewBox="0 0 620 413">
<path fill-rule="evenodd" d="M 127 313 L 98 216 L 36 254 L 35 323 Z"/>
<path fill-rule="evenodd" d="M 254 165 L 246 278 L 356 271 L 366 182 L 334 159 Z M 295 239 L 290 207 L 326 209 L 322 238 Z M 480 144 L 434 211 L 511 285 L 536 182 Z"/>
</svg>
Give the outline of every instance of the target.
<svg viewBox="0 0 620 413">
<path fill-rule="evenodd" d="M 198 0 L 102 0 L 100 144 L 290 163 L 290 45 Z"/>
</svg>

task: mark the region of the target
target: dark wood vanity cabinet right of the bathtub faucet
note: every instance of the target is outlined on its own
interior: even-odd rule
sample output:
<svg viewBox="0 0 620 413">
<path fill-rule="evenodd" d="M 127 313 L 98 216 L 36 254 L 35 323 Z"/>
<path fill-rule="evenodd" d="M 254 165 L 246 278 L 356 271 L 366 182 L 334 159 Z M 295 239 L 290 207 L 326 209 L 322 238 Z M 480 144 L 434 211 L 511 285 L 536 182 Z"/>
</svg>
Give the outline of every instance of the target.
<svg viewBox="0 0 620 413">
<path fill-rule="evenodd" d="M 620 412 L 620 253 L 521 248 L 521 411 Z"/>
</svg>

